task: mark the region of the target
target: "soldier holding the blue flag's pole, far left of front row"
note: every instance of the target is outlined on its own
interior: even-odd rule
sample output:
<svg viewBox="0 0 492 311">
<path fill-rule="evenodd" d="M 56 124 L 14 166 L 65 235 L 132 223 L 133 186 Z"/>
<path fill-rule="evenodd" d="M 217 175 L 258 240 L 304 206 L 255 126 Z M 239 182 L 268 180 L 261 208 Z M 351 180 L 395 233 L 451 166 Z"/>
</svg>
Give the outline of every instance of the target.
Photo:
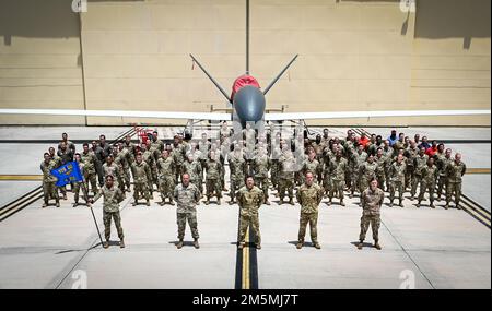
<svg viewBox="0 0 492 311">
<path fill-rule="evenodd" d="M 124 231 L 121 227 L 121 216 L 119 214 L 119 203 L 124 201 L 124 192 L 114 184 L 112 175 L 104 178 L 105 186 L 97 192 L 91 203 L 97 201 L 101 196 L 104 198 L 103 203 L 103 220 L 104 220 L 104 237 L 106 241 L 103 242 L 103 248 L 109 247 L 109 238 L 112 235 L 112 218 L 115 220 L 116 230 L 118 231 L 119 247 L 125 248 Z"/>
</svg>

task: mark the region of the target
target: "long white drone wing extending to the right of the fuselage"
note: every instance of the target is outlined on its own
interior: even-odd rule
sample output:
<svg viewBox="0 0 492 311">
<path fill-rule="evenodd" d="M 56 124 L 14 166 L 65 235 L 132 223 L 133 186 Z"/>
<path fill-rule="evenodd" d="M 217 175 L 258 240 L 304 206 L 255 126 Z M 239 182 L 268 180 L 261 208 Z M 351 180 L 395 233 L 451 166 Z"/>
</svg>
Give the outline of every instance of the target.
<svg viewBox="0 0 492 311">
<path fill-rule="evenodd" d="M 490 110 L 380 110 L 380 111 L 332 111 L 266 113 L 266 121 L 353 119 L 385 117 L 477 116 L 490 115 Z"/>
</svg>

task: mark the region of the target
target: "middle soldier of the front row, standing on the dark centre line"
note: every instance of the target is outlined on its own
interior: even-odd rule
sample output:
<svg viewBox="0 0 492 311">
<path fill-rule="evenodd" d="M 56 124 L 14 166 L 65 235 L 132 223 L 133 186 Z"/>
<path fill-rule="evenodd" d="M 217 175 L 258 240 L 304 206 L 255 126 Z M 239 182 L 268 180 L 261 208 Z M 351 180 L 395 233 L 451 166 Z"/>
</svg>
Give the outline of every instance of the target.
<svg viewBox="0 0 492 311">
<path fill-rule="evenodd" d="M 259 230 L 258 208 L 265 202 L 263 192 L 255 186 L 253 176 L 246 178 L 246 186 L 237 192 L 237 203 L 239 204 L 239 240 L 237 248 L 245 246 L 246 230 L 250 227 L 256 237 L 256 248 L 261 249 L 261 235 Z"/>
</svg>

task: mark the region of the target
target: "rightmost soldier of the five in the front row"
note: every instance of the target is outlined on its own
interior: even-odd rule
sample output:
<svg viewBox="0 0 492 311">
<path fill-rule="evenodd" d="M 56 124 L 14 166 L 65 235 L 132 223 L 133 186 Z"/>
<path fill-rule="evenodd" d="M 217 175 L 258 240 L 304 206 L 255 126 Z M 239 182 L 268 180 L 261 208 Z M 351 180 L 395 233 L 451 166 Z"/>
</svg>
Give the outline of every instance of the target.
<svg viewBox="0 0 492 311">
<path fill-rule="evenodd" d="M 403 171 L 405 182 L 405 171 Z M 358 249 L 362 249 L 367 232 L 368 226 L 373 229 L 374 247 L 380 250 L 379 246 L 379 226 L 380 226 L 380 206 L 385 200 L 385 193 L 377 188 L 377 179 L 372 179 L 370 188 L 361 193 L 362 217 L 361 217 L 361 234 L 359 235 Z"/>
</svg>

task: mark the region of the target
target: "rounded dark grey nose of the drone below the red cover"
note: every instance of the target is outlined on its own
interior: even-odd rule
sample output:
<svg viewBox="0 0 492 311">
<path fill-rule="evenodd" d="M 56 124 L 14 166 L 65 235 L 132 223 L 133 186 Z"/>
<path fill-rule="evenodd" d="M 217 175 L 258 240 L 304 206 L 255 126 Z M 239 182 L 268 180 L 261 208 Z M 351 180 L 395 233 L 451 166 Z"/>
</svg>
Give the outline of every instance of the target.
<svg viewBox="0 0 492 311">
<path fill-rule="evenodd" d="M 265 95 L 259 88 L 246 85 L 234 95 L 234 108 L 243 123 L 258 122 L 265 113 Z"/>
</svg>

